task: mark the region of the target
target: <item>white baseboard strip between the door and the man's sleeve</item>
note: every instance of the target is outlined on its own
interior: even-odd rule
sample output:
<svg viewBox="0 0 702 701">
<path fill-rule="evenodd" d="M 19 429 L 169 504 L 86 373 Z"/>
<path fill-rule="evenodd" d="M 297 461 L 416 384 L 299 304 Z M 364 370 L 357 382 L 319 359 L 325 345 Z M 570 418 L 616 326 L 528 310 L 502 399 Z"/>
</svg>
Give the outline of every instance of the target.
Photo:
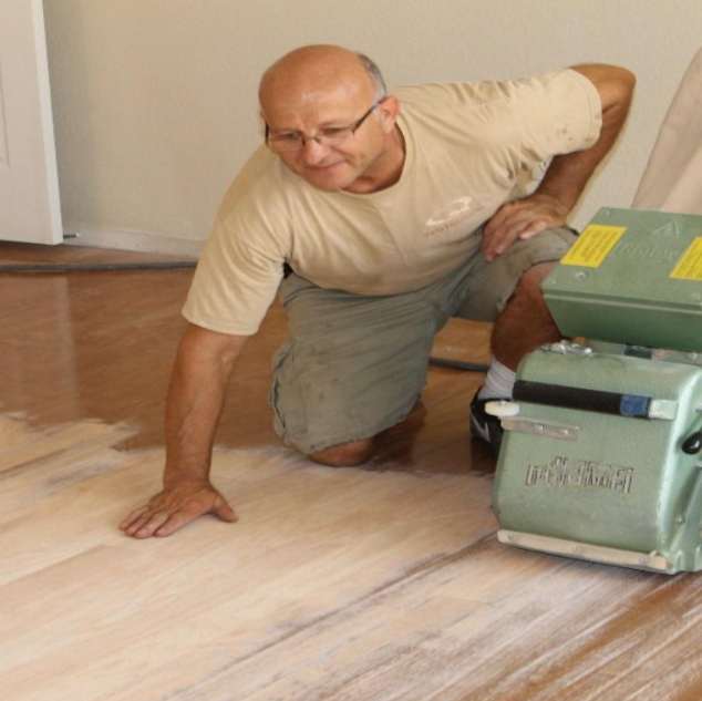
<svg viewBox="0 0 702 701">
<path fill-rule="evenodd" d="M 205 245 L 204 240 L 174 238 L 163 234 L 145 231 L 110 231 L 73 229 L 65 231 L 64 243 L 69 246 L 91 246 L 94 248 L 113 248 L 115 250 L 133 250 L 164 256 L 184 256 L 197 258 Z"/>
</svg>

